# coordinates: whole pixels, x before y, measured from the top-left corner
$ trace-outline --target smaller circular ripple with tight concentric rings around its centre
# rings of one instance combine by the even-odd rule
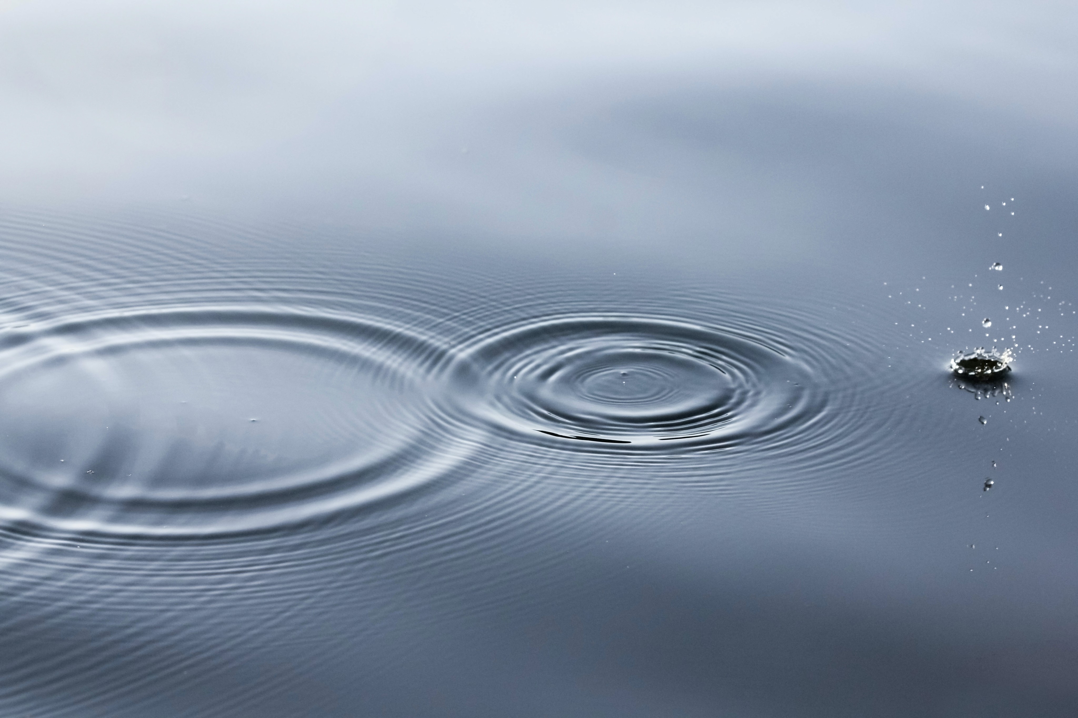
[[[811,367],[730,329],[561,316],[484,337],[453,369],[455,395],[516,438],[611,450],[718,449],[766,440],[826,408]]]

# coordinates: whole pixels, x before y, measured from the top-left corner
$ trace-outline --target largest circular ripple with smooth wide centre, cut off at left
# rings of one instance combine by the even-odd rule
[[[433,340],[246,309],[83,316],[0,334],[0,516],[178,536],[400,496],[462,457],[432,418]]]

